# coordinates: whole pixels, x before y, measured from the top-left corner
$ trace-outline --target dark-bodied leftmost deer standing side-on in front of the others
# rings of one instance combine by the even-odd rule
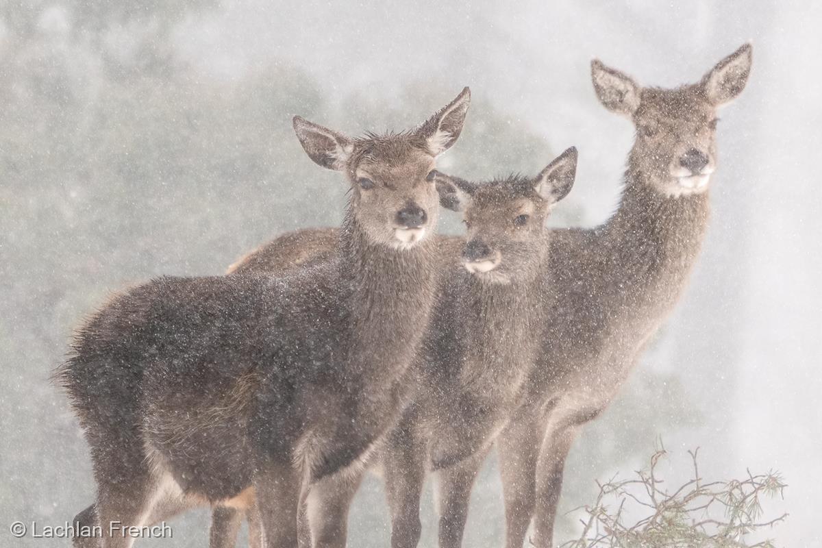
[[[349,139],[294,118],[303,149],[353,188],[334,260],[289,276],[161,278],[113,298],[58,369],[97,481],[78,521],[111,531],[256,499],[266,546],[297,545],[302,489],[357,467],[399,419],[436,287],[434,160],[466,88],[422,127]],[[77,539],[94,546],[94,539]],[[224,539],[233,543],[233,539]]]

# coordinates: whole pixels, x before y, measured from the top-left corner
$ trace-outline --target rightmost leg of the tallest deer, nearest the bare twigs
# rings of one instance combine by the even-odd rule
[[[537,463],[536,504],[533,516],[534,546],[552,546],[556,505],[562,490],[566,457],[580,426],[547,431]]]

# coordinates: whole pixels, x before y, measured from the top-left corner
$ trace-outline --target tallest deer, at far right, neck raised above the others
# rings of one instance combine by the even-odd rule
[[[686,287],[709,217],[717,109],[746,85],[751,48],[697,84],[644,88],[594,61],[593,86],[629,117],[636,139],[621,205],[603,226],[558,230],[547,269],[558,298],[547,308],[529,400],[501,435],[506,546],[552,546],[563,464],[577,432],[611,402],[644,345]]]

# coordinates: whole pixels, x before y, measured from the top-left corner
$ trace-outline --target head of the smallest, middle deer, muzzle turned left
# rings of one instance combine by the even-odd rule
[[[571,147],[537,177],[511,176],[483,184],[436,172],[443,207],[464,211],[465,269],[489,283],[538,275],[547,251],[545,221],[574,186],[576,159]]]

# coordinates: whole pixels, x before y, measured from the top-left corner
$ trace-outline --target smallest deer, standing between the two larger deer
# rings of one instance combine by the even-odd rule
[[[566,150],[538,177],[485,184],[441,173],[441,205],[464,210],[467,242],[440,238],[442,273],[437,305],[412,366],[416,389],[399,425],[377,452],[392,516],[391,545],[416,546],[419,500],[427,469],[439,471],[441,546],[459,546],[473,477],[510,411],[538,348],[552,206],[570,191],[576,150]],[[330,230],[280,237],[247,256],[242,268],[281,272],[289,261],[327,252]],[[298,246],[294,246],[298,243]],[[327,243],[327,242],[326,242]],[[460,255],[462,260],[452,257]],[[314,546],[345,546],[349,505],[361,474],[328,477],[307,497]],[[471,480],[471,481],[469,481]],[[462,490],[464,489],[464,490]]]

